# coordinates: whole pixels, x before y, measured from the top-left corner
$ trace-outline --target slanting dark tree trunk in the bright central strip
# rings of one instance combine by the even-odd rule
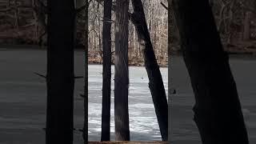
[[[136,26],[138,41],[143,48],[146,72],[149,78],[150,92],[154,102],[155,112],[158,118],[158,124],[162,135],[162,140],[168,139],[168,104],[166,91],[162,82],[162,75],[159,70],[158,62],[154,55],[153,46],[150,40],[150,34],[146,25],[146,18],[141,0],[132,0],[134,14],[131,15],[131,21]]]

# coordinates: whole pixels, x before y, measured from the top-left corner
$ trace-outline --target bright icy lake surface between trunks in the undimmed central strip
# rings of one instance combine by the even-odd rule
[[[112,66],[114,72],[114,66]],[[167,93],[167,68],[161,68]],[[102,66],[89,66],[89,134],[92,140],[99,140],[102,111]],[[129,116],[130,134],[134,141],[161,140],[158,122],[154,112],[145,67],[130,66]],[[114,140],[114,74],[112,74],[111,135]]]

